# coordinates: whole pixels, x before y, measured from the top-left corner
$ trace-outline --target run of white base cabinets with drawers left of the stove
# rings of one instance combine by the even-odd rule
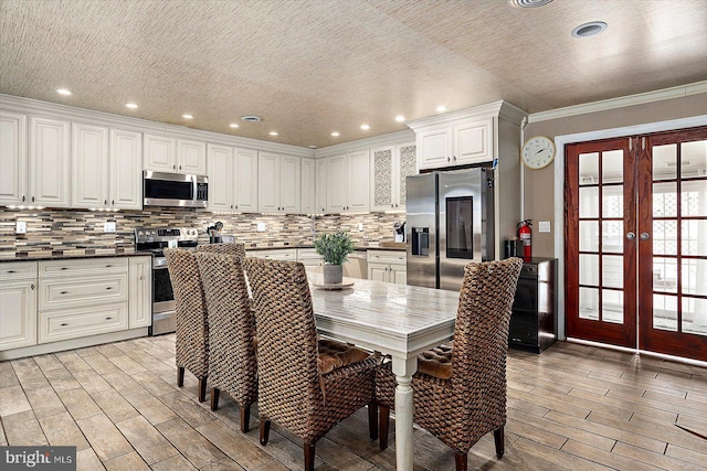
[[[149,256],[2,263],[0,281],[0,360],[143,336],[151,323]]]

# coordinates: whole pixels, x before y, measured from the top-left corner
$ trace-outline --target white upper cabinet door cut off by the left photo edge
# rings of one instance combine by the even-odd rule
[[[0,205],[28,200],[27,115],[0,109]]]

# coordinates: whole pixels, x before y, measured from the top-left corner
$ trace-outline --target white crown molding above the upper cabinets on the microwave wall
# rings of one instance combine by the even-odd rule
[[[71,120],[76,122],[89,122],[97,126],[115,127],[137,132],[148,132],[165,135],[169,133],[176,138],[196,139],[204,142],[219,143],[222,146],[233,146],[255,150],[264,150],[276,153],[286,153],[295,157],[314,157],[313,149],[289,146],[278,142],[270,142],[260,139],[244,138],[240,136],[224,135],[201,129],[187,128],[184,126],[168,125],[165,122],[150,121],[147,119],[133,118],[129,116],[114,115],[92,109],[77,108],[75,106],[61,105],[56,103],[41,101],[32,98],[18,97],[13,95],[0,94],[0,107],[7,110],[24,114],[49,115],[56,119]]]

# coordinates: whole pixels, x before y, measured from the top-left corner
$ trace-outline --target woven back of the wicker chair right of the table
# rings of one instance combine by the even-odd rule
[[[508,323],[523,260],[468,264],[460,290],[454,327],[452,382],[457,394],[473,396],[469,404],[490,414],[506,416],[506,354]],[[494,419],[498,421],[498,417]]]

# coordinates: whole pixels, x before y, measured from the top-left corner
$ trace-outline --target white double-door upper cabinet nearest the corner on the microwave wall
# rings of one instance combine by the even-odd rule
[[[257,203],[261,213],[299,213],[300,159],[272,152],[257,156]]]

